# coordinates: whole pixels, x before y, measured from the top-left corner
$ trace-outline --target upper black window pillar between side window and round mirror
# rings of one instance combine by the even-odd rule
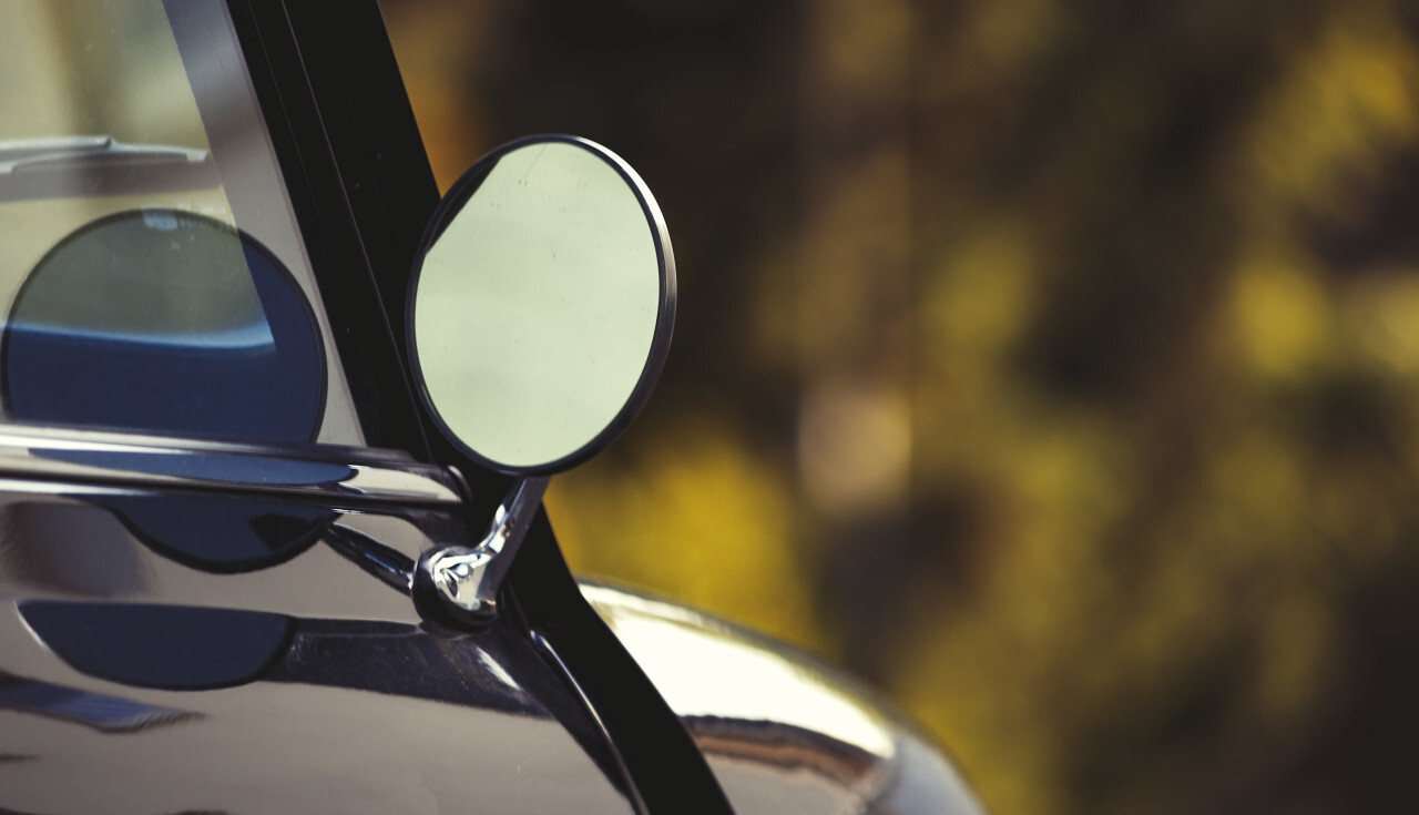
[[[373,3],[227,0],[366,444],[433,460],[402,287],[438,189]],[[377,156],[377,158],[375,158]]]

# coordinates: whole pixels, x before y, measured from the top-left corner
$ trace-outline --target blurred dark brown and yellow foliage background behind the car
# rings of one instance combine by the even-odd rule
[[[1419,4],[385,0],[438,183],[675,241],[579,571],[797,643],[999,814],[1413,812]]]

